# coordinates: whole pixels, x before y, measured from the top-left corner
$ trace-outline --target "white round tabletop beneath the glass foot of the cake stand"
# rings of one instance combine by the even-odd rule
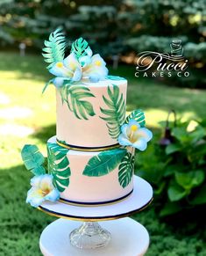
[[[90,223],[91,224],[91,223]],[[102,230],[98,223],[96,229]],[[39,245],[40,250],[45,256],[134,256],[144,255],[149,245],[149,235],[144,226],[132,220],[129,217],[117,219],[114,221],[103,221],[101,226],[103,230],[108,230],[110,233],[110,240],[106,239],[106,247],[99,246],[96,249],[79,249],[76,248],[71,237],[74,236],[76,229],[78,232],[87,230],[89,232],[89,223],[82,224],[79,228],[80,222],[69,221],[66,219],[59,219],[49,224],[43,230]],[[94,226],[91,230],[94,230]],[[71,243],[69,242],[69,234]],[[89,237],[88,237],[89,238]],[[78,240],[78,239],[77,239]],[[88,245],[88,241],[87,241]],[[78,246],[81,247],[81,246]],[[91,248],[91,247],[90,247]]]

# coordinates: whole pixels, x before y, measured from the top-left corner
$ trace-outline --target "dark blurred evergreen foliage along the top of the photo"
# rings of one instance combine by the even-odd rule
[[[49,33],[60,26],[67,33],[67,46],[82,36],[105,58],[131,55],[127,61],[132,62],[145,50],[170,52],[171,40],[179,38],[190,76],[165,77],[166,82],[205,87],[205,10],[204,0],[3,0],[0,45],[17,48],[19,42],[25,42],[28,48],[38,50]]]

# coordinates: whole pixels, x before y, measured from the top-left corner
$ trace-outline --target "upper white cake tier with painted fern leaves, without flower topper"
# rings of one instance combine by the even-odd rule
[[[126,91],[127,81],[120,77],[57,89],[57,141],[78,150],[117,146],[125,121]]]

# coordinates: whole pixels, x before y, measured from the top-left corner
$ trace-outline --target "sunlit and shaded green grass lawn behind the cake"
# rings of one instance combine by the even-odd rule
[[[19,57],[0,52],[0,255],[40,255],[39,235],[55,219],[25,204],[31,174],[25,171],[20,158],[25,143],[35,143],[46,153],[46,140],[55,135],[53,86],[41,95],[50,78],[45,67],[40,54]],[[205,115],[202,106],[206,91],[138,79],[133,76],[134,67],[121,66],[110,73],[128,78],[128,111],[143,108],[154,133],[160,131],[158,122],[167,118],[171,108],[183,118],[201,119]],[[197,229],[195,223],[189,227],[164,223],[153,205],[133,217],[150,232],[151,245],[146,255],[206,255],[206,232]]]

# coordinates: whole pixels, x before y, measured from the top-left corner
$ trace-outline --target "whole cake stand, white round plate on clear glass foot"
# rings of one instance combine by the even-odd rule
[[[74,221],[82,221],[82,225],[67,234],[71,245],[81,249],[105,247],[112,240],[110,231],[97,222],[116,220],[130,216],[146,208],[153,201],[153,188],[145,179],[134,177],[132,194],[124,201],[103,206],[74,206],[60,201],[44,201],[39,210],[51,216]],[[54,222],[55,223],[55,222]]]

